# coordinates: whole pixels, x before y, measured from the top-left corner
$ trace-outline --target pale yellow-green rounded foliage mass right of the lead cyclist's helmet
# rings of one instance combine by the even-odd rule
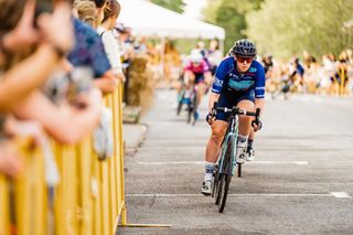
[[[266,0],[249,13],[246,33],[263,52],[289,57],[307,50],[315,55],[339,53],[352,41],[351,0]],[[352,44],[351,44],[352,45]]]

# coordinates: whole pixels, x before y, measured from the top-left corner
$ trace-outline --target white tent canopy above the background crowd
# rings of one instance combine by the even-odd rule
[[[224,40],[224,29],[188,18],[147,0],[119,0],[118,22],[141,36],[218,39]]]

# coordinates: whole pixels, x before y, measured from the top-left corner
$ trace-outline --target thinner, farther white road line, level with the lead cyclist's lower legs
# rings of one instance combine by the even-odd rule
[[[139,161],[138,164],[143,165],[168,165],[168,164],[204,164],[204,161]],[[306,165],[308,161],[252,161],[247,164],[298,164]]]

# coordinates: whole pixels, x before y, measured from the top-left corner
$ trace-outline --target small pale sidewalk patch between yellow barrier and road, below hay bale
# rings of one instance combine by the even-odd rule
[[[135,154],[137,148],[145,139],[148,126],[143,124],[122,124],[122,138],[125,142],[125,154]]]

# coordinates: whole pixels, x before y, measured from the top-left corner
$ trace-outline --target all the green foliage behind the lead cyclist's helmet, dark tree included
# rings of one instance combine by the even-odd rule
[[[206,21],[225,29],[225,50],[249,38],[279,57],[352,47],[352,0],[208,0],[203,10]]]

